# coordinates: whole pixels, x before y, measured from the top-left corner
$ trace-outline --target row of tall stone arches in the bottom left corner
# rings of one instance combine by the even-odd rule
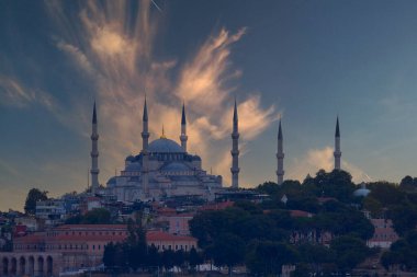
[[[58,276],[55,253],[0,253],[0,276]]]

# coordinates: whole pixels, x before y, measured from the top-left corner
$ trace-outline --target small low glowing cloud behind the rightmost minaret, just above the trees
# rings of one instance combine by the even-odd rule
[[[311,149],[302,159],[294,159],[293,166],[286,173],[288,178],[300,180],[301,182],[307,174],[314,176],[319,170],[330,172],[334,170],[334,149],[329,146],[322,149]],[[341,159],[341,168],[352,175],[354,183],[369,182],[372,178],[354,164]]]

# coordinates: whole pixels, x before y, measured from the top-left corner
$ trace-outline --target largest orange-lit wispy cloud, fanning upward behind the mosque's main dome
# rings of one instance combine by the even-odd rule
[[[206,169],[213,165],[216,173],[229,172],[227,155],[234,94],[239,102],[244,141],[255,139],[277,119],[274,106],[261,106],[260,93],[237,95],[237,83],[243,72],[233,67],[230,53],[233,45],[246,34],[246,28],[236,33],[226,28],[213,32],[195,55],[178,65],[176,59],[158,60],[154,57],[159,23],[157,18],[150,19],[149,0],[140,1],[136,10],[132,10],[127,1],[100,4],[87,1],[77,16],[63,12],[61,2],[48,1],[45,4],[50,19],[61,31],[56,39],[57,48],[87,72],[97,88],[100,157],[106,177],[114,168],[123,164],[125,155],[140,150],[145,93],[151,139],[158,137],[164,124],[168,137],[178,140],[180,107],[185,101],[190,152],[201,154]],[[172,70],[179,70],[178,80],[170,78]],[[74,108],[72,113],[83,114],[83,118],[90,116],[87,105]],[[225,177],[228,183],[228,176]]]

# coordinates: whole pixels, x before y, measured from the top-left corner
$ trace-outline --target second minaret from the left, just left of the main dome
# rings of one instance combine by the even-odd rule
[[[145,105],[144,105],[144,116],[143,116],[143,131],[142,131],[142,188],[144,189],[145,197],[149,196],[149,153],[148,153],[148,108],[146,105],[146,96],[145,96]]]

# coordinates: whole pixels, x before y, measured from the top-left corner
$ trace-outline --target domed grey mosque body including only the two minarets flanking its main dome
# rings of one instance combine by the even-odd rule
[[[162,135],[148,143],[148,113],[145,100],[143,116],[143,150],[128,155],[120,175],[111,177],[104,194],[115,195],[120,201],[161,199],[173,196],[198,195],[207,200],[222,189],[222,176],[207,174],[202,160],[187,152],[185,107],[182,106],[181,145]],[[95,157],[94,157],[95,159]]]

